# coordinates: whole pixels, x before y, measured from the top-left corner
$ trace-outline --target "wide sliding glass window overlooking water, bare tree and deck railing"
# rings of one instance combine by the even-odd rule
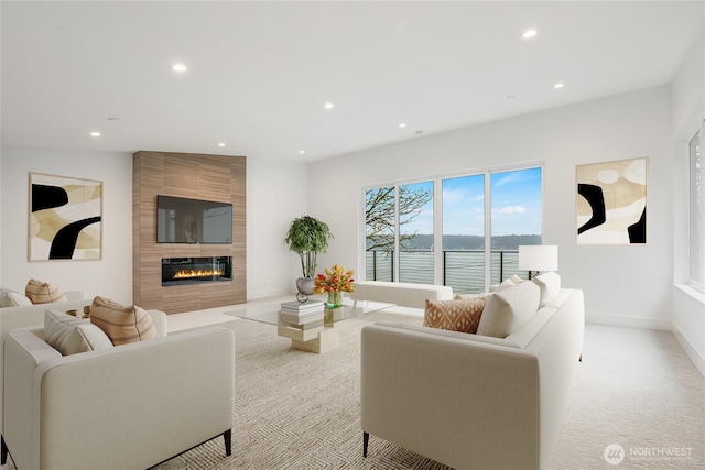
[[[441,284],[464,294],[525,276],[518,251],[541,244],[541,167],[367,189],[367,280]]]

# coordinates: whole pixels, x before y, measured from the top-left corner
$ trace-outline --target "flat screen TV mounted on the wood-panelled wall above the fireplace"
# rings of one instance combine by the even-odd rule
[[[232,243],[232,204],[156,196],[158,243]]]

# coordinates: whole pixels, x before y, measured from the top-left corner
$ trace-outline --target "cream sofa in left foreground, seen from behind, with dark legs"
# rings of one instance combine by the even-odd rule
[[[144,469],[223,436],[230,455],[235,336],[223,327],[62,357],[43,329],[3,337],[2,463]]]

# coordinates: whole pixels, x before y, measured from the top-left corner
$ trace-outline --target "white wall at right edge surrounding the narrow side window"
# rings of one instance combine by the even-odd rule
[[[674,334],[705,375],[705,295],[685,286],[688,280],[688,142],[705,135],[705,37],[696,43],[673,81],[674,140]]]

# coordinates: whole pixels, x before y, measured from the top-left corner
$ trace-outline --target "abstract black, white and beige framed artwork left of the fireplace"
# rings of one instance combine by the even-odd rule
[[[102,182],[30,173],[29,259],[100,260]]]

